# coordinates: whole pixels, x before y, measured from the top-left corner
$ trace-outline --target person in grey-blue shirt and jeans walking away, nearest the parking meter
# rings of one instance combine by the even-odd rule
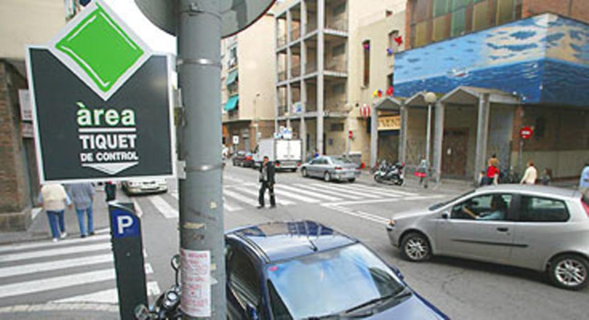
[[[92,203],[94,202],[94,186],[92,183],[74,183],[67,187],[67,192],[74,202],[75,213],[80,225],[80,236],[94,235],[94,220],[92,219]],[[88,219],[88,229],[84,226],[84,213]]]

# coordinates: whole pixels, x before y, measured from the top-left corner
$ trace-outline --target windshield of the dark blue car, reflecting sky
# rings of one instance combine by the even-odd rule
[[[287,260],[268,267],[275,319],[302,319],[346,311],[395,294],[405,286],[361,244]]]

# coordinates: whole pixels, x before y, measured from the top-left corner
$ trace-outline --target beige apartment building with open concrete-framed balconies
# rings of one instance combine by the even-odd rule
[[[365,64],[362,48],[374,33],[382,31],[375,41],[384,45],[392,29],[403,28],[403,15],[395,17],[401,25],[391,22],[404,6],[400,0],[292,0],[277,5],[276,130],[292,127],[306,154],[352,151],[367,161],[369,136],[360,108],[373,103],[369,92],[379,81],[386,91],[392,64]],[[385,45],[377,60],[386,61],[386,52]],[[373,85],[363,82],[365,65],[373,70]]]

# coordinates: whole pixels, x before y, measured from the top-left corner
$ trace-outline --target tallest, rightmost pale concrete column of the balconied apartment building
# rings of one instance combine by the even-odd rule
[[[323,153],[323,70],[325,57],[323,55],[325,46],[325,0],[317,0],[317,149]]]

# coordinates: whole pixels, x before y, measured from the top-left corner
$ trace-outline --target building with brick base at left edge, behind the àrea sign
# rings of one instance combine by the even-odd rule
[[[63,0],[0,3],[0,230],[24,230],[38,193],[30,121],[20,111],[18,90],[27,89],[25,46],[43,44],[65,24]]]

